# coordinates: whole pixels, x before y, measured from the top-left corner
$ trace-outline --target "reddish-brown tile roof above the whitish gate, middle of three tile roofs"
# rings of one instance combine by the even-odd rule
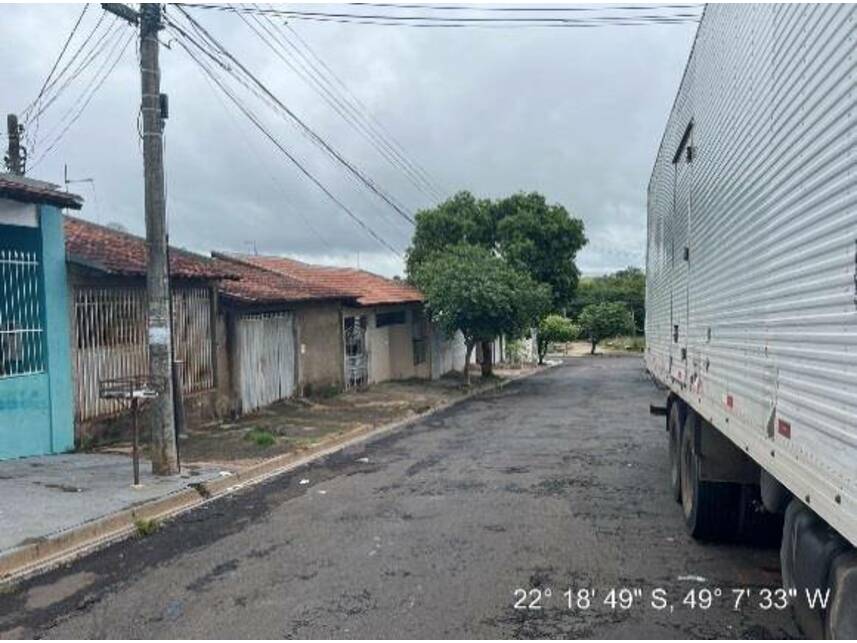
[[[275,304],[319,299],[349,299],[347,293],[266,270],[243,258],[213,252],[215,261],[238,279],[221,284],[223,296],[242,303]]]

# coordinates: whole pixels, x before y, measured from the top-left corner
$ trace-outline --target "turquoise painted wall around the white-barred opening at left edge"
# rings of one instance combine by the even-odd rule
[[[39,207],[38,229],[0,226],[4,248],[41,252],[46,371],[0,379],[0,459],[74,448],[71,340],[62,213]]]

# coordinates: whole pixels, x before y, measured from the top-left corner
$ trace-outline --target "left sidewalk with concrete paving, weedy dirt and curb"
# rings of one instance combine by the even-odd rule
[[[131,487],[130,449],[121,444],[0,462],[0,583],[538,370],[496,369],[484,382],[471,373],[470,389],[460,379],[409,380],[275,404],[190,433],[180,475],[156,478],[141,459],[140,489]]]

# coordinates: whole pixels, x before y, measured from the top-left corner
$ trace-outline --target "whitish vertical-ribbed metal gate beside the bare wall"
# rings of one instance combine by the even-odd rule
[[[236,325],[241,411],[295,392],[295,324],[291,313],[243,315]]]

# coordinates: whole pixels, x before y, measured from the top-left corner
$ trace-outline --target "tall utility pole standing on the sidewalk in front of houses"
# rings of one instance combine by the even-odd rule
[[[146,287],[149,312],[149,374],[163,386],[153,400],[151,455],[155,475],[178,473],[172,377],[172,319],[164,197],[164,145],[161,112],[161,72],[158,67],[160,4],[141,4],[134,11],[123,4],[102,7],[140,25],[140,79],[143,120],[143,175],[148,264]]]

